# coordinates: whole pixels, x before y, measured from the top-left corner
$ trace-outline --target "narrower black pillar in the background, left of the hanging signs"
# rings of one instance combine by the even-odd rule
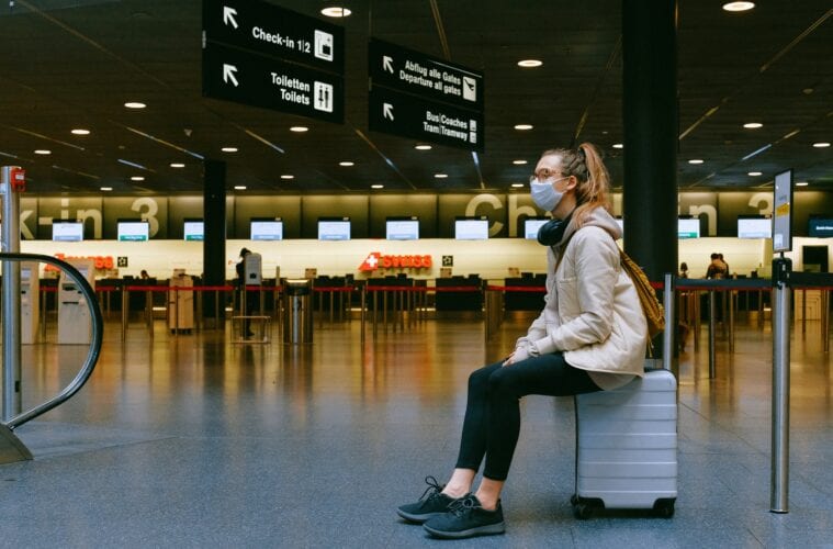
[[[205,160],[203,180],[202,245],[203,283],[223,285],[226,282],[226,163]],[[225,295],[222,292],[205,292],[203,295],[203,318],[216,318],[216,325],[224,325]]]

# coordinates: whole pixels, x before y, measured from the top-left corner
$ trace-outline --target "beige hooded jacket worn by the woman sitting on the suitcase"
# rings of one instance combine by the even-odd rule
[[[544,309],[517,343],[531,354],[564,351],[569,365],[587,370],[605,390],[643,374],[648,344],[645,315],[615,242],[620,236],[603,208],[577,231],[571,220],[561,243],[548,250]]]

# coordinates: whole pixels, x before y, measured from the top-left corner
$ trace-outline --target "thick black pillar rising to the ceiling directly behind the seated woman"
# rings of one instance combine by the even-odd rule
[[[622,0],[624,249],[652,281],[677,272],[676,18],[676,0]]]

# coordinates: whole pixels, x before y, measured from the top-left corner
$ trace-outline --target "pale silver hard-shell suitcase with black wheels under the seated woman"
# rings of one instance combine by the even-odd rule
[[[575,397],[577,518],[594,508],[674,515],[677,498],[677,382],[652,370],[623,388]]]

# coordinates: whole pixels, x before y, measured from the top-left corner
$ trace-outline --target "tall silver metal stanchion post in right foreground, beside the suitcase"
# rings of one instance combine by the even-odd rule
[[[789,513],[789,273],[792,261],[773,260],[773,448],[769,511]]]

